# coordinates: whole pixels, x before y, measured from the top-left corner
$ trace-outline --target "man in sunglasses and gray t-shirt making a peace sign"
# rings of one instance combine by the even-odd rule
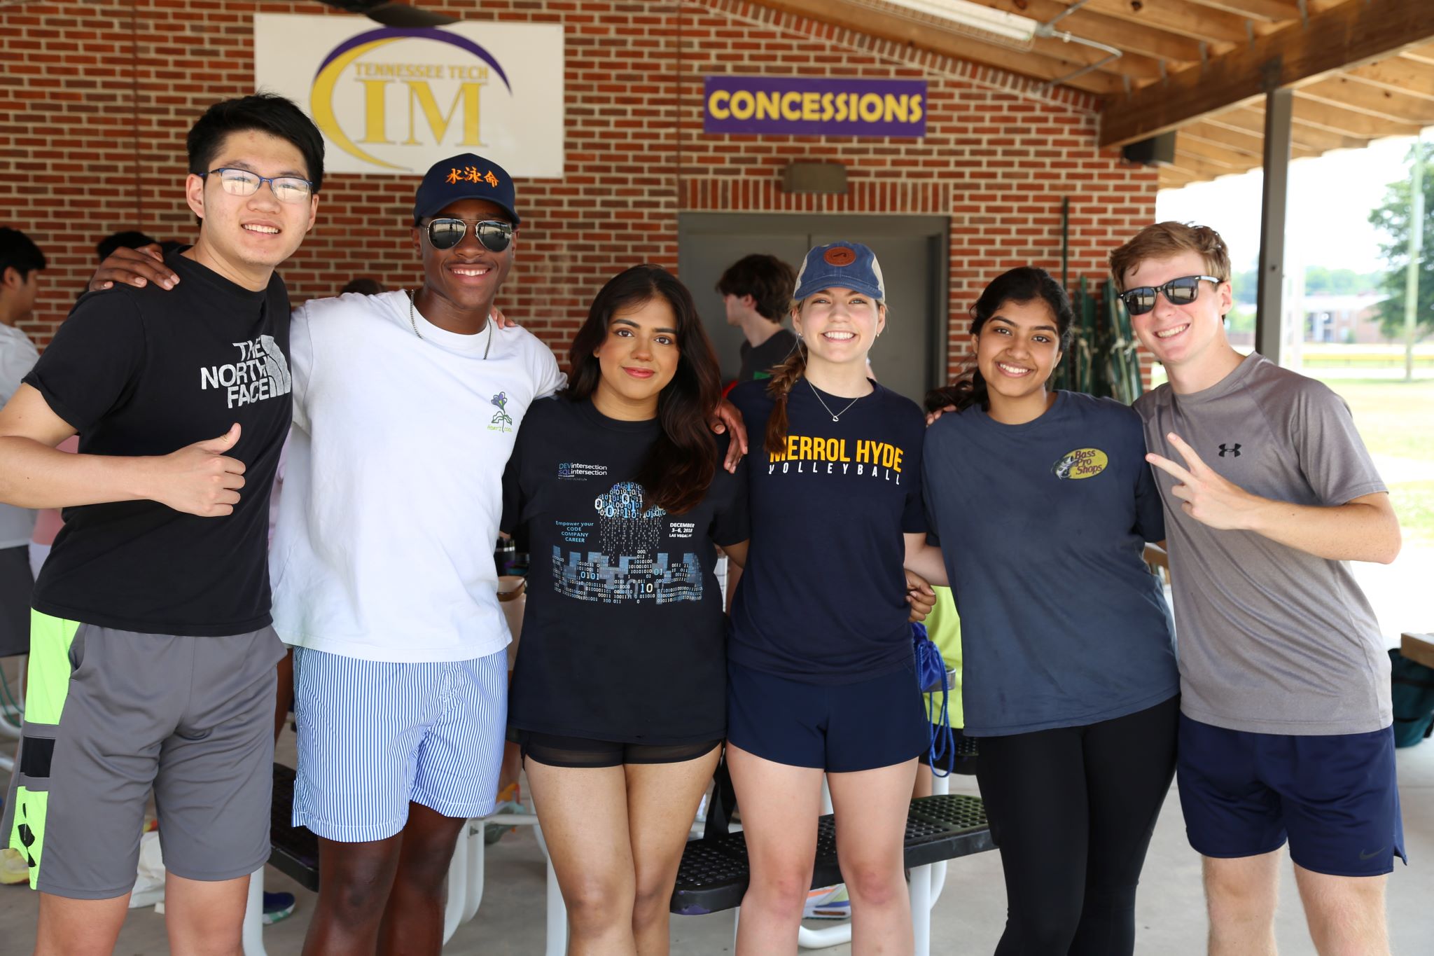
[[[1230,347],[1219,234],[1152,225],[1110,265],[1170,378],[1136,410],[1166,503],[1176,775],[1210,953],[1275,953],[1288,840],[1316,949],[1387,955],[1385,874],[1404,857],[1390,659],[1345,563],[1400,550],[1384,482],[1336,394]]]

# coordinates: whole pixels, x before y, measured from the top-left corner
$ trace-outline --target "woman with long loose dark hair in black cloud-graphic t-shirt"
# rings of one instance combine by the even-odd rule
[[[509,732],[568,907],[569,953],[665,953],[683,846],[726,737],[714,545],[746,469],[711,434],[717,357],[691,294],[638,265],[592,301],[566,391],[503,477],[532,555]]]

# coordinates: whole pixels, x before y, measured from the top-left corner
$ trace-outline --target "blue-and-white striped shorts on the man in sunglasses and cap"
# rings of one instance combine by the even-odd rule
[[[508,655],[389,664],[294,648],[294,826],[384,840],[409,801],[445,817],[493,811],[508,721]]]

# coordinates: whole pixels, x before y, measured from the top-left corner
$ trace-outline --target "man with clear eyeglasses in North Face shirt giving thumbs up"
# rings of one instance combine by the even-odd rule
[[[76,304],[0,411],[0,500],[60,507],[34,589],[4,834],[40,890],[36,953],[110,953],[151,788],[175,952],[238,952],[268,859],[268,486],[290,426],[274,268],[314,224],[323,139],[291,102],[209,107],[188,136],[199,235],[172,294]],[[54,450],[79,433],[79,454]]]

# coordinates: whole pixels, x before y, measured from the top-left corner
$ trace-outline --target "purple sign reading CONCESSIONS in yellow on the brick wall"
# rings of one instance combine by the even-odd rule
[[[926,135],[926,82],[707,76],[703,130],[919,138]]]

